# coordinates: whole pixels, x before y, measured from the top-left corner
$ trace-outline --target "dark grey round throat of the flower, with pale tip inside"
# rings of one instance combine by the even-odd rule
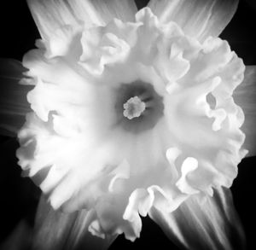
[[[163,115],[163,97],[155,92],[150,83],[137,80],[131,84],[120,84],[116,96],[115,125],[125,131],[135,134],[148,131]]]

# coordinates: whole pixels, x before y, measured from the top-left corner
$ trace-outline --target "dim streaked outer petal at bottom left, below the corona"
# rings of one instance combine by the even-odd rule
[[[64,213],[53,210],[41,197],[35,223],[32,249],[38,250],[63,250],[83,249],[108,249],[115,236],[105,239],[93,236],[88,231],[94,213],[81,210],[79,212]]]

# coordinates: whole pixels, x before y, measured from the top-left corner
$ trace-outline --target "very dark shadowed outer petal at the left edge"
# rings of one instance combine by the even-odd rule
[[[31,86],[20,82],[26,68],[20,61],[0,59],[0,133],[15,137],[31,111],[26,94]]]

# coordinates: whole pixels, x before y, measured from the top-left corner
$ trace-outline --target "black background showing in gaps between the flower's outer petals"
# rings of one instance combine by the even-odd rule
[[[139,8],[148,1],[137,1]],[[229,41],[246,65],[256,65],[256,1],[241,0],[236,15],[221,35]],[[34,48],[39,38],[37,27],[26,6],[25,0],[2,1],[0,5],[0,57],[22,59],[27,50]],[[255,83],[256,84],[256,83]],[[39,190],[28,178],[20,177],[20,167],[16,164],[15,150],[19,147],[15,138],[0,137],[0,241],[3,241],[20,222],[26,218],[33,224],[38,203]],[[239,175],[231,190],[247,235],[247,249],[256,249],[255,172],[254,157],[242,160]],[[142,249],[143,247],[177,249],[172,245],[160,228],[150,219],[143,218],[143,231],[134,243],[126,241],[123,235],[110,247],[114,249]]]

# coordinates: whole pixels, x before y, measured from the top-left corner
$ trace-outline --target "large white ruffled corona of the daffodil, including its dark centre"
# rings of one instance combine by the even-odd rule
[[[93,235],[133,241],[152,206],[230,187],[247,151],[232,98],[245,67],[227,42],[144,8],[58,27],[38,47],[23,60],[35,86],[17,156],[55,209],[86,209]]]

